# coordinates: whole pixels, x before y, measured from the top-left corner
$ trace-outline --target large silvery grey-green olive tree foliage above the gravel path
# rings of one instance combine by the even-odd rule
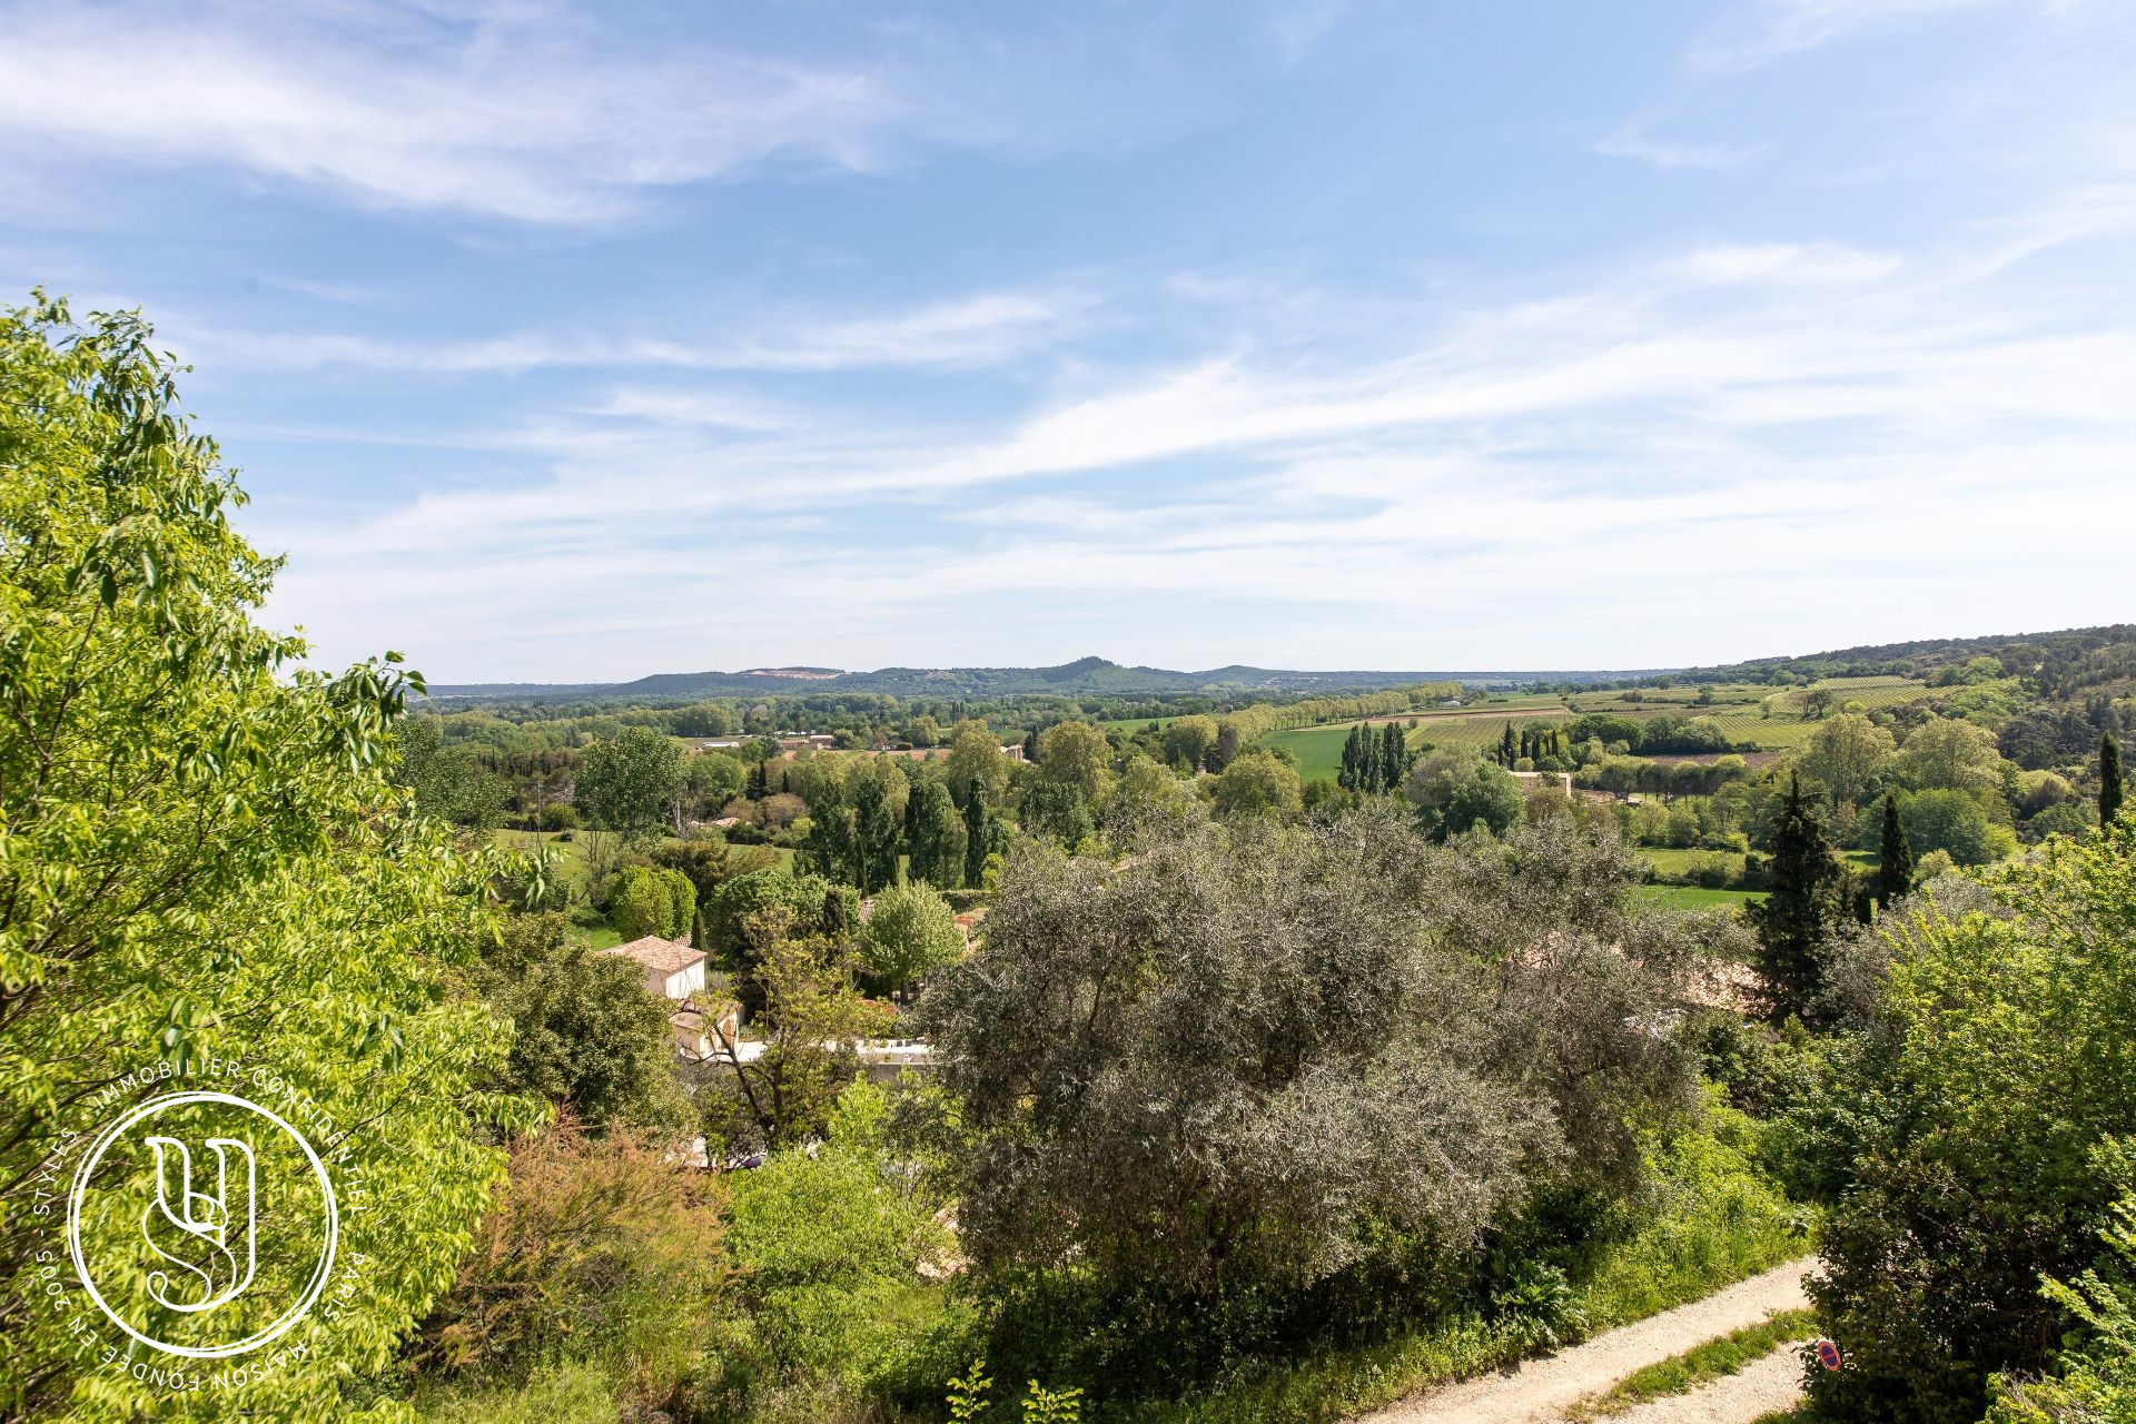
[[[1435,845],[1393,807],[1023,848],[921,1003],[974,1260],[1301,1285],[1630,1185],[1636,1125],[1692,1102],[1675,984],[1726,933],[1630,914],[1636,880],[1564,818]]]

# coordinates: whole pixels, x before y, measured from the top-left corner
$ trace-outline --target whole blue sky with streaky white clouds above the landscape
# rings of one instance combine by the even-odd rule
[[[0,301],[143,307],[320,664],[1625,668],[2136,617],[2125,0],[0,36]]]

